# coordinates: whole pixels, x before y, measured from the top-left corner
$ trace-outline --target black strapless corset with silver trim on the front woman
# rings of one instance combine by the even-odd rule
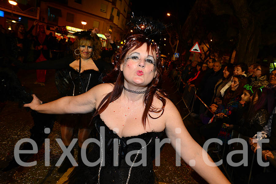
[[[88,153],[87,159],[89,162],[96,162],[100,156],[104,156],[105,159],[100,159],[101,163],[95,167],[86,165],[75,167],[66,183],[153,184],[156,182],[157,178],[152,170],[152,158],[155,154],[155,139],[161,139],[164,131],[120,138],[105,125],[99,115],[94,117],[93,123],[95,123],[98,133],[100,133],[100,127],[104,128],[104,137],[99,134],[97,138],[99,141],[104,139],[104,144],[98,146],[93,143],[93,149]],[[144,145],[135,142],[137,141],[135,138],[143,140]],[[133,142],[129,143],[128,141]],[[103,149],[105,149],[104,152]],[[113,158],[114,149],[117,151],[116,158]],[[130,158],[129,155],[131,155]],[[142,161],[145,166],[143,164],[135,165]]]

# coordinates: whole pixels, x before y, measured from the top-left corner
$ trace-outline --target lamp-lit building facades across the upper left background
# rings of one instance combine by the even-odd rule
[[[121,42],[126,23],[130,20],[130,0],[14,1],[17,1],[17,6],[12,6],[8,0],[0,1],[0,10],[4,12],[0,17],[3,28],[14,29],[16,23],[13,22],[16,21],[28,29],[38,19],[45,25],[47,34],[55,34],[58,26],[67,27],[69,36],[80,29],[98,28],[100,34],[109,32],[115,42]],[[87,24],[83,25],[82,21]],[[101,39],[103,46],[109,46],[104,38]]]

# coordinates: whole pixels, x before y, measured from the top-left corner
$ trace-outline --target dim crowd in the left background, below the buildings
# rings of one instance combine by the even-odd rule
[[[35,30],[35,31],[34,31]],[[34,33],[35,32],[35,33]],[[7,30],[0,25],[1,40],[1,67],[9,67],[12,61],[8,57],[22,63],[34,63],[45,60],[58,60],[66,54],[72,54],[73,42],[70,37],[60,36],[58,39],[52,32],[46,34],[45,25],[34,21],[33,25],[26,31],[24,24],[17,23],[15,28]],[[102,47],[102,55],[107,62],[113,55],[112,49]],[[17,70],[17,68],[14,68]],[[35,84],[44,86],[46,70],[37,70]]]

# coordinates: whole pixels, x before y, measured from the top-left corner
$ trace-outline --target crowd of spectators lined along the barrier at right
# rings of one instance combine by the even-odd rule
[[[171,64],[173,65],[173,64]],[[204,139],[219,138],[223,142],[238,135],[247,141],[248,163],[253,159],[253,153],[260,149],[263,160],[270,159],[276,163],[276,68],[271,69],[268,63],[256,63],[247,66],[245,63],[221,64],[215,59],[204,63],[187,61],[171,67],[181,75],[183,86],[189,85],[197,89],[198,99],[194,102],[191,116],[198,119],[202,125],[200,134]],[[169,72],[170,66],[168,67]],[[274,110],[273,110],[274,109]],[[233,130],[233,131],[232,131]],[[259,132],[259,133],[258,133]],[[260,133],[261,132],[261,133]],[[257,136],[258,135],[258,136]],[[225,140],[226,138],[226,140]],[[232,137],[234,138],[234,137]],[[262,148],[258,141],[269,139]],[[215,144],[214,152],[222,153],[220,145]],[[226,146],[228,147],[228,146]],[[231,145],[229,150],[243,150],[240,146]],[[240,162],[242,154],[233,156],[233,160]],[[263,173],[263,168],[254,160],[253,183],[258,183],[266,177],[267,183],[274,183],[274,175]],[[270,164],[268,171],[276,173]],[[247,183],[250,167],[235,167],[234,183]],[[247,177],[245,177],[247,176]]]

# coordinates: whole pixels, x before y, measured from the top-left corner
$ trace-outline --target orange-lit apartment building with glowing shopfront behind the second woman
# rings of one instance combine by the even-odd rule
[[[74,28],[98,28],[100,34],[109,32],[115,42],[121,42],[126,30],[126,23],[130,17],[129,0],[63,0],[41,1],[40,21],[47,25],[48,31],[55,30],[56,26]],[[87,24],[83,25],[82,21]],[[108,46],[105,39],[103,46]]]

